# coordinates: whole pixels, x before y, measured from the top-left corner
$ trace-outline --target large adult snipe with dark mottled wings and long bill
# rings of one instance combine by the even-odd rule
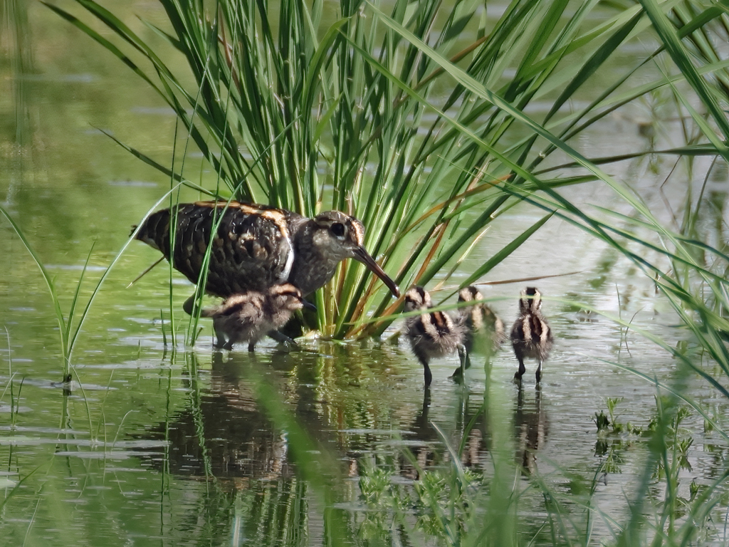
[[[191,282],[198,282],[208,244],[212,245],[205,288],[214,296],[265,292],[286,282],[308,295],[327,283],[346,258],[359,260],[399,295],[397,284],[364,249],[362,222],[339,211],[311,219],[237,201],[181,203],[149,215],[136,238],[170,260],[173,222],[173,265]],[[192,300],[185,304],[189,312]]]

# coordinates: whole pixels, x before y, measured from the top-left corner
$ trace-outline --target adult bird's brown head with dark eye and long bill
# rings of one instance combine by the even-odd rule
[[[316,216],[313,243],[322,254],[335,260],[354,258],[382,279],[393,295],[399,296],[397,284],[364,249],[364,226],[354,217],[339,211],[327,211]]]

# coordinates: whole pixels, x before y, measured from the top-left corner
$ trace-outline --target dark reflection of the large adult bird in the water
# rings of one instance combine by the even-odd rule
[[[149,465],[187,478],[288,481],[295,472],[284,431],[258,403],[254,382],[243,376],[258,360],[248,352],[225,355],[212,354],[208,376],[198,372],[195,354],[188,354],[191,373],[183,376],[182,387],[195,396],[144,433],[145,439],[168,443],[164,458],[158,449],[149,454]],[[277,389],[286,396],[285,384]]]

